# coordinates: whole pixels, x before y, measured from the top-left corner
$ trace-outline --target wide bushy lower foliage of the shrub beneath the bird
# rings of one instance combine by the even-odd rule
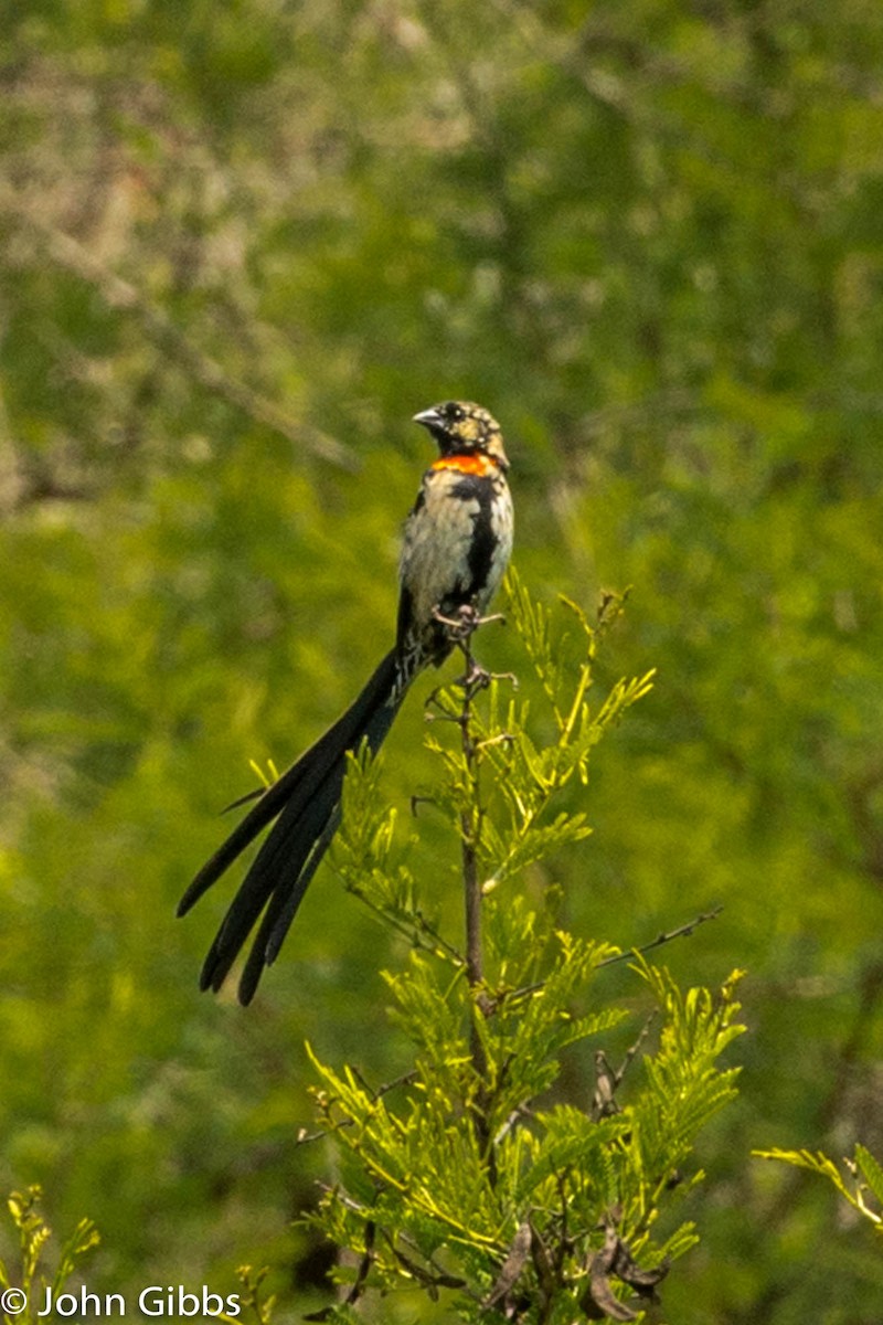
[[[536,917],[519,918],[527,921],[523,942],[534,946]],[[548,1092],[565,1045],[598,1043],[626,1015],[590,980],[606,950],[547,939],[547,979],[530,992],[496,992],[488,1018],[462,978],[445,979],[443,963],[434,969],[413,957],[388,977],[392,1016],[414,1051],[404,1081],[372,1089],[355,1069],[314,1057],[339,1177],[311,1222],[355,1264],[367,1256],[361,1269],[338,1269],[352,1301],[367,1289],[451,1289],[463,1320],[498,1318],[506,1297],[511,1318],[565,1321],[592,1301],[592,1260],[609,1223],[647,1268],[699,1240],[695,1223],[673,1208],[703,1177],[691,1167],[696,1134],[735,1096],[735,1069],[718,1067],[741,1030],[735,982],[718,998],[679,994],[666,971],[642,963],[654,990],[665,990],[661,1044],[629,1079],[616,1112],[602,1114],[589,1100],[552,1102]],[[594,1010],[568,1012],[561,1000],[584,1000],[589,987]],[[474,1024],[487,1077],[474,1067]],[[523,1228],[530,1249],[518,1281],[495,1301]]]

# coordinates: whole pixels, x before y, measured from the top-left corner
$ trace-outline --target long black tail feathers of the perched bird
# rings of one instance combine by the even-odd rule
[[[363,737],[372,750],[380,747],[405,689],[393,649],[343,717],[263,792],[203,865],[180,901],[179,916],[199,901],[262,828],[277,820],[221,922],[203,965],[200,988],[217,991],[221,987],[263,913],[240,980],[240,1002],[252,1002],[263,967],[277,958],[338,828],[347,753],[357,750]]]

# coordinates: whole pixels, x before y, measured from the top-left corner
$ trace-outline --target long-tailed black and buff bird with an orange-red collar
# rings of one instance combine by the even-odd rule
[[[451,621],[481,616],[512,551],[508,458],[496,420],[473,401],[447,400],[413,421],[438,447],[405,521],[398,562],[393,647],[346,713],[266,790],[234,802],[254,804],[203,865],[181,897],[184,916],[269,825],[208,951],[200,988],[218,992],[257,926],[238,983],[244,1006],[279,954],[298,906],[340,822],[347,757],[367,742],[380,749],[405,694],[428,666],[454,648]]]

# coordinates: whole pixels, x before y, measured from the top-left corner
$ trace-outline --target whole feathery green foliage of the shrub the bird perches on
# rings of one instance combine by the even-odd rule
[[[442,767],[428,799],[454,840],[474,849],[486,880],[481,977],[475,957],[425,918],[417,882],[397,859],[377,762],[364,751],[351,761],[334,859],[347,886],[412,938],[408,965],[385,979],[391,1019],[414,1057],[404,1079],[372,1089],[353,1068],[311,1053],[339,1178],[310,1222],[356,1257],[349,1271],[338,1269],[349,1284],[346,1305],[326,1318],[349,1318],[368,1288],[414,1287],[430,1296],[457,1291],[463,1320],[564,1322],[589,1309],[637,1318],[610,1279],[653,1297],[670,1261],[698,1242],[690,1220],[661,1238],[654,1226],[678,1189],[699,1179],[683,1173],[696,1136],[736,1093],[736,1071],[718,1060],[743,1030],[733,1022],[737,973],[712,998],[703,988],[682,992],[638,957],[634,970],[661,1018],[642,1083],[630,1081],[622,1100],[617,1079],[604,1097],[555,1101],[565,1051],[597,1044],[626,1016],[597,991],[598,969],[620,954],[573,938],[511,882],[516,869],[585,836],[581,812],[561,811],[548,827],[543,816],[575,774],[585,780],[590,751],[649,680],[617,682],[594,713],[586,694],[596,629],[563,606],[580,627],[581,659],[571,665],[555,613],[531,603],[515,578],[510,599],[553,717],[552,743],[528,737],[526,702],[500,705],[508,677],[481,678],[481,713],[469,653],[461,686],[432,698],[433,716],[450,719],[459,746],[443,743],[436,727],[428,738]]]

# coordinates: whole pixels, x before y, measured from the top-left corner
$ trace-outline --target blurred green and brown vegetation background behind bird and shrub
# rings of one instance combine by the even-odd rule
[[[749,971],[666,1318],[879,1325],[870,1232],[749,1158],[883,1153],[878,0],[28,0],[0,36],[0,1186],[98,1222],[94,1289],[250,1260],[322,1305],[303,1040],[393,1072],[398,958],[324,868],[244,1012],[196,990],[233,880],[173,908],[249,759],[388,647],[409,420],[467,396],[526,582],[631,586],[601,680],[658,668],[527,882],[626,946],[720,902],[665,959]]]

